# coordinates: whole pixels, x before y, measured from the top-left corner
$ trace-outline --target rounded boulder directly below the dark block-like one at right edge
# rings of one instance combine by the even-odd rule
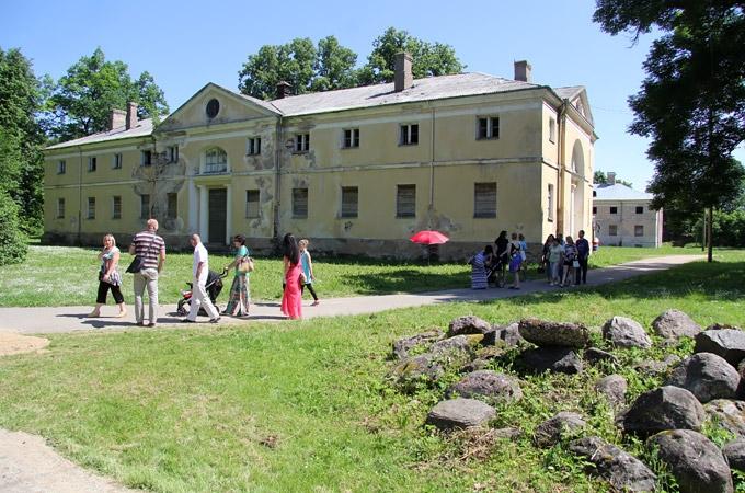
[[[690,390],[700,402],[734,399],[740,387],[740,374],[721,356],[697,353],[673,370],[666,385]]]

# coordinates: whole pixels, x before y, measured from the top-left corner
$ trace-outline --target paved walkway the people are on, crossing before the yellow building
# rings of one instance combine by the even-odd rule
[[[587,275],[588,286],[619,282],[642,274],[664,271],[675,265],[703,259],[702,255],[671,255],[641,261],[629,262],[612,267],[589,271]],[[413,295],[383,295],[383,296],[357,296],[351,298],[321,299],[318,307],[310,307],[305,301],[302,314],[306,319],[316,317],[349,316],[358,313],[373,313],[394,308],[421,307],[425,305],[442,303],[449,301],[484,301],[496,298],[508,298],[529,293],[558,290],[560,288],[549,286],[545,280],[529,280],[523,283],[520,290],[513,289],[449,289],[434,293],[419,293]],[[568,288],[564,288],[568,289]],[[577,289],[576,287],[569,289]],[[225,298],[224,298],[225,299]],[[104,317],[89,319],[87,314],[92,306],[87,307],[42,307],[42,308],[0,308],[0,332],[16,332],[22,334],[48,334],[60,332],[74,332],[88,330],[122,330],[133,329],[135,325],[134,309],[129,306],[129,314],[123,319],[114,318],[116,308],[104,307]],[[147,311],[147,309],[146,309]],[[161,306],[159,325],[172,325],[180,322],[182,317],[176,314],[175,305]],[[111,314],[111,317],[105,317]],[[200,317],[200,321],[207,318]],[[261,301],[252,303],[251,314],[248,318],[222,317],[220,324],[244,324],[251,321],[279,321],[284,320],[279,311],[278,301]]]

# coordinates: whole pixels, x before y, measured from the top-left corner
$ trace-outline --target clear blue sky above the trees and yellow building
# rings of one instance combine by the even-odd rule
[[[278,5],[282,5],[279,8]],[[207,82],[237,90],[238,71],[265,44],[334,35],[364,64],[373,39],[393,26],[451,45],[467,65],[512,78],[513,61],[532,65],[534,82],[585,85],[599,140],[595,169],[616,171],[643,190],[653,174],[646,142],[627,134],[627,99],[639,91],[651,36],[632,46],[592,22],[595,2],[490,1],[10,1],[0,47],[19,47],[37,76],[55,79],[96,46],[108,59],[148,70],[175,110]],[[741,149],[735,156],[745,161]]]

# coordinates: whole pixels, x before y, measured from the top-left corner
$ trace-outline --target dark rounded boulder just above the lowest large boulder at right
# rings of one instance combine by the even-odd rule
[[[616,423],[627,433],[652,434],[665,429],[701,429],[703,406],[679,387],[660,387],[639,395]]]

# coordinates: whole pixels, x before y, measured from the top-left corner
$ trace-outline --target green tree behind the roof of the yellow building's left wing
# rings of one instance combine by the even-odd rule
[[[83,56],[57,82],[49,99],[49,134],[69,140],[107,129],[113,108],[124,110],[128,102],[139,105],[140,118],[167,115],[163,91],[149,72],[137,80],[124,61],[108,61],[101,48]]]

